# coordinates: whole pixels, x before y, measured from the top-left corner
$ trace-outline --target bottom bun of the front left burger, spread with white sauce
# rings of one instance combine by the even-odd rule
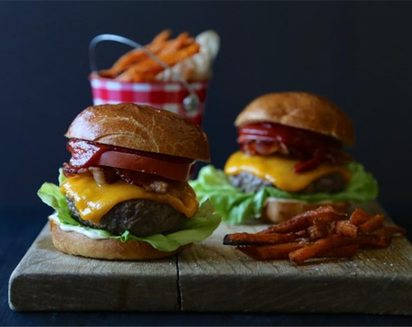
[[[147,242],[128,240],[124,243],[118,239],[90,239],[77,232],[61,230],[49,219],[50,232],[54,246],[61,252],[108,260],[150,260],[171,257],[192,244],[180,246],[174,251],[164,252],[152,247]]]

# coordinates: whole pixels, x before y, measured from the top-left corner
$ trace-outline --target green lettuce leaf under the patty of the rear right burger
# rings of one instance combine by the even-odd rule
[[[268,197],[307,202],[364,202],[375,199],[378,195],[378,184],[372,174],[366,172],[358,162],[350,162],[347,169],[351,172],[351,180],[345,190],[334,194],[289,193],[272,186],[262,188],[258,192],[244,193],[230,183],[222,170],[211,165],[203,167],[197,180],[189,183],[200,201],[209,199],[212,202],[216,211],[222,216],[222,221],[236,225],[243,223],[247,218],[260,216]]]

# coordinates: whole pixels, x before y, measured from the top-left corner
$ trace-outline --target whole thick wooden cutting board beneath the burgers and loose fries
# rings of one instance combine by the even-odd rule
[[[382,212],[376,202],[363,206]],[[121,262],[57,251],[46,225],[9,281],[16,311],[278,311],[412,315],[412,246],[405,237],[356,257],[296,266],[254,261],[227,233],[265,226],[227,226],[178,257]]]

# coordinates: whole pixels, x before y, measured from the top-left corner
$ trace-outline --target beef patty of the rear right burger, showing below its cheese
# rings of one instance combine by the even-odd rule
[[[246,193],[256,192],[265,186],[272,186],[272,183],[247,172],[240,172],[235,176],[228,176],[228,178],[233,186]],[[344,190],[345,186],[346,182],[343,176],[335,173],[317,179],[299,193],[337,193]]]

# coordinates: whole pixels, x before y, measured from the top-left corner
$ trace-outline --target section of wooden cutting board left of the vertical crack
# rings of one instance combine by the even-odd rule
[[[9,281],[15,311],[176,311],[176,257],[128,262],[75,257],[54,248],[44,226]]]

